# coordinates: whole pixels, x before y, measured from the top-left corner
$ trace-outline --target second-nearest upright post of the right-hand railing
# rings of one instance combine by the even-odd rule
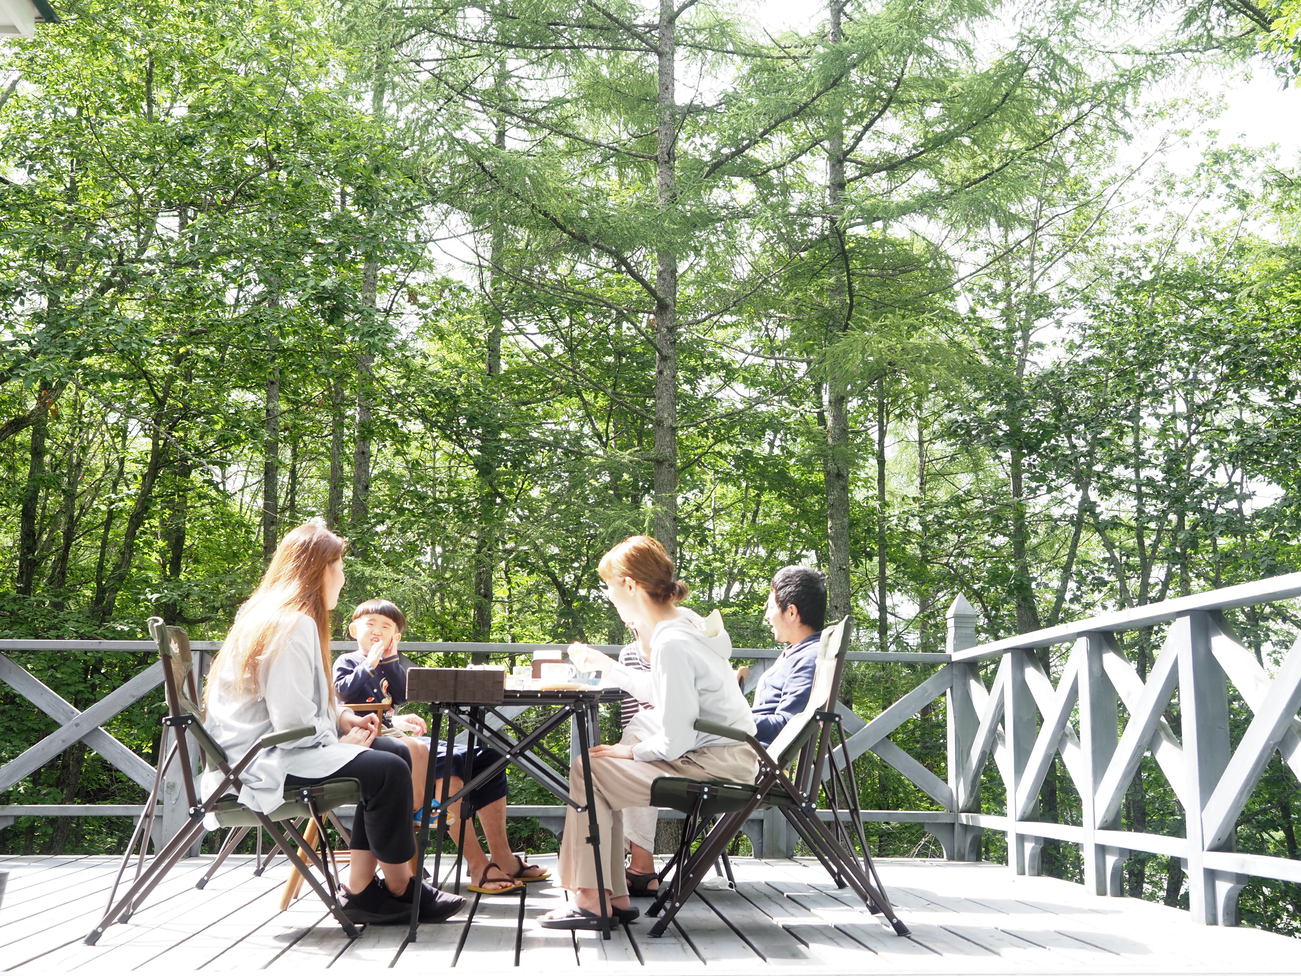
[[[1120,894],[1119,872],[1112,871],[1120,852],[1097,842],[1095,833],[1118,825],[1119,815],[1098,822],[1098,786],[1116,751],[1116,690],[1103,670],[1107,634],[1084,635],[1084,666],[1080,670],[1080,746],[1085,783],[1080,796],[1084,820],[1084,886],[1094,894]]]

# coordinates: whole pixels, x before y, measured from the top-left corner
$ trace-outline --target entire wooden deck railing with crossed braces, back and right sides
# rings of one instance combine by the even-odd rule
[[[1301,639],[1266,666],[1235,636],[1226,612],[1301,596],[1301,573],[1216,590],[1085,621],[977,644],[977,616],[958,597],[948,612],[946,653],[853,652],[852,661],[907,664],[922,677],[879,714],[864,720],[842,712],[851,759],[872,753],[896,769],[933,802],[932,809],[865,809],[876,822],[921,824],[946,856],[980,856],[984,830],[1007,835],[1008,860],[1019,873],[1039,872],[1045,839],[1080,845],[1085,884],[1095,894],[1121,893],[1121,868],[1133,851],[1179,858],[1188,873],[1190,910],[1209,924],[1236,924],[1237,894],[1253,877],[1301,882],[1301,861],[1233,850],[1237,819],[1270,757],[1279,752],[1301,778]],[[1120,649],[1120,636],[1163,627],[1164,640],[1146,679]],[[527,655],[544,644],[407,643],[406,655],[470,653],[476,660]],[[350,649],[340,643],[337,651]],[[1053,648],[1045,668],[1037,653]],[[195,642],[211,653],[213,644]],[[0,681],[49,714],[60,727],[0,768],[0,793],[30,776],[78,740],[99,752],[147,791],[154,768],[113,739],[103,725],[161,683],[151,664],[100,701],[78,712],[16,662],[31,651],[152,651],[148,642],[0,640]],[[775,656],[773,649],[738,649],[756,662],[749,682]],[[1253,718],[1231,747],[1229,692]],[[1171,725],[1177,692],[1180,739]],[[934,770],[891,737],[932,703],[947,712],[946,768]],[[1120,721],[1120,708],[1125,721]],[[1120,829],[1120,807],[1140,760],[1150,755],[1185,811],[1183,837]],[[1055,759],[1081,798],[1081,822],[1041,819],[1039,795]],[[985,776],[989,760],[997,776]],[[870,760],[869,760],[870,761]],[[1000,781],[1000,787],[997,782]],[[989,790],[1000,789],[997,802]],[[982,793],[982,790],[985,793]],[[164,794],[160,830],[185,817],[178,795]],[[982,813],[1002,807],[1002,815]],[[139,806],[0,806],[0,829],[22,815],[139,816]],[[559,807],[513,806],[514,816],[539,816],[558,826]],[[552,822],[554,821],[554,822]],[[747,833],[756,852],[788,852],[794,838],[779,813],[757,815]]]

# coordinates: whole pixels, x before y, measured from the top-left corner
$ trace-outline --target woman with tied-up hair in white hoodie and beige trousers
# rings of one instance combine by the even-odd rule
[[[658,541],[644,535],[624,539],[601,558],[597,571],[606,599],[636,631],[650,664],[653,709],[641,713],[650,720],[630,724],[617,744],[588,752],[606,904],[617,920],[631,921],[637,911],[628,902],[623,872],[623,811],[650,806],[650,783],[661,776],[753,779],[758,764],[748,746],[699,733],[695,722],[704,718],[753,734],[755,720],[729,662],[731,643],[712,642],[679,613],[687,587],[675,579],[673,560]],[[593,653],[582,644],[570,649],[579,666]],[[579,760],[570,766],[570,795],[585,803]],[[587,812],[566,808],[558,881],[574,894],[574,907],[543,919],[544,928],[604,924],[587,833]]]

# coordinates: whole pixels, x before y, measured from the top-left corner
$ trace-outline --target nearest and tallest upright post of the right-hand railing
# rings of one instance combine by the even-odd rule
[[[1228,683],[1211,653],[1210,617],[1206,612],[1176,617],[1170,625],[1179,653],[1179,709],[1188,770],[1184,808],[1188,838],[1188,910],[1207,925],[1220,921],[1216,873],[1205,865],[1206,834],[1202,815],[1229,759]]]

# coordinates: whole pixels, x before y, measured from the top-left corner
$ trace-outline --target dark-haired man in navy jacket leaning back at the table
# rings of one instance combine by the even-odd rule
[[[755,688],[755,734],[769,746],[804,711],[813,690],[818,639],[826,621],[826,576],[807,566],[783,566],[773,576],[764,619],[788,644]]]

